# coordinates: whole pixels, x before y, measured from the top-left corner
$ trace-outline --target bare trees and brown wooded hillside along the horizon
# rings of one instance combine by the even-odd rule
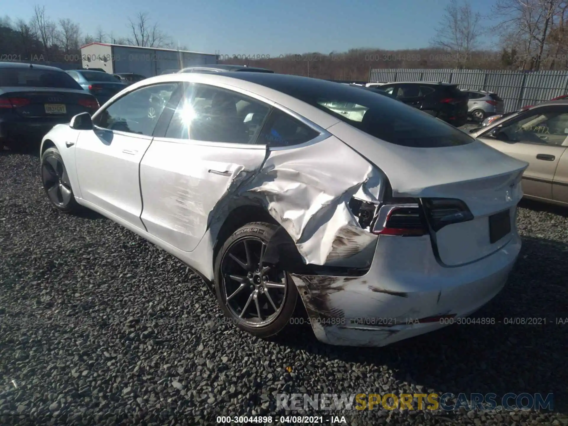
[[[219,55],[219,62],[353,81],[367,80],[371,68],[567,70],[567,11],[568,0],[495,0],[483,16],[473,11],[470,0],[450,0],[436,24],[435,36],[421,49],[354,48],[277,57]],[[496,42],[487,45],[489,37]],[[73,60],[81,57],[81,45],[93,41],[177,47],[147,12],[128,18],[121,34],[105,32],[100,26],[94,34],[85,34],[70,19],[52,19],[44,6],[35,6],[28,20],[0,19],[0,60],[24,60],[34,55],[45,61]],[[187,50],[185,46],[179,48]]]

